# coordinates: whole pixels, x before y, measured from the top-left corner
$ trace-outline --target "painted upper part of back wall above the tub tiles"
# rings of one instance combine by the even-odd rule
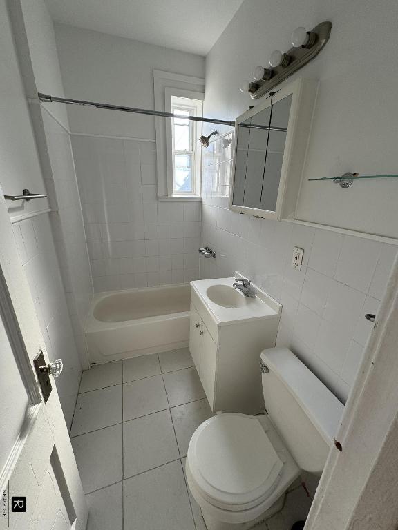
[[[153,109],[153,70],[204,77],[200,55],[55,24],[64,90],[69,98]],[[155,139],[155,119],[68,106],[73,133]]]

